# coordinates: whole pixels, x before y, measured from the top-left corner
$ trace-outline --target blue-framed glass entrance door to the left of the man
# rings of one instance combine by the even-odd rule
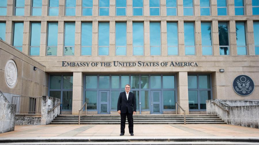
[[[99,114],[109,114],[110,106],[109,106],[109,91],[99,91]]]

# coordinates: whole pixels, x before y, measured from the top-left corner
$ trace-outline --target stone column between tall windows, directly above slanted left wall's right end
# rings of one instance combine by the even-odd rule
[[[46,46],[47,46],[47,21],[41,21],[40,56],[46,56]]]

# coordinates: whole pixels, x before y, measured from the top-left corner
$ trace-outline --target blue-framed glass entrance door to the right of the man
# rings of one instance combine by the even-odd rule
[[[151,114],[162,114],[161,91],[151,91]]]

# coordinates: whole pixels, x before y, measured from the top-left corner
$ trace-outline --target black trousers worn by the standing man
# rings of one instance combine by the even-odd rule
[[[129,123],[129,133],[133,133],[133,113],[129,113],[128,110],[126,113],[121,113],[121,133],[125,133],[125,122],[126,116]]]

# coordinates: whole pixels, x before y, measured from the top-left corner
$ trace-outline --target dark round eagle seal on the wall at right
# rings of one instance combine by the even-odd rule
[[[254,82],[250,77],[240,75],[234,79],[233,89],[238,95],[247,96],[254,91]]]

